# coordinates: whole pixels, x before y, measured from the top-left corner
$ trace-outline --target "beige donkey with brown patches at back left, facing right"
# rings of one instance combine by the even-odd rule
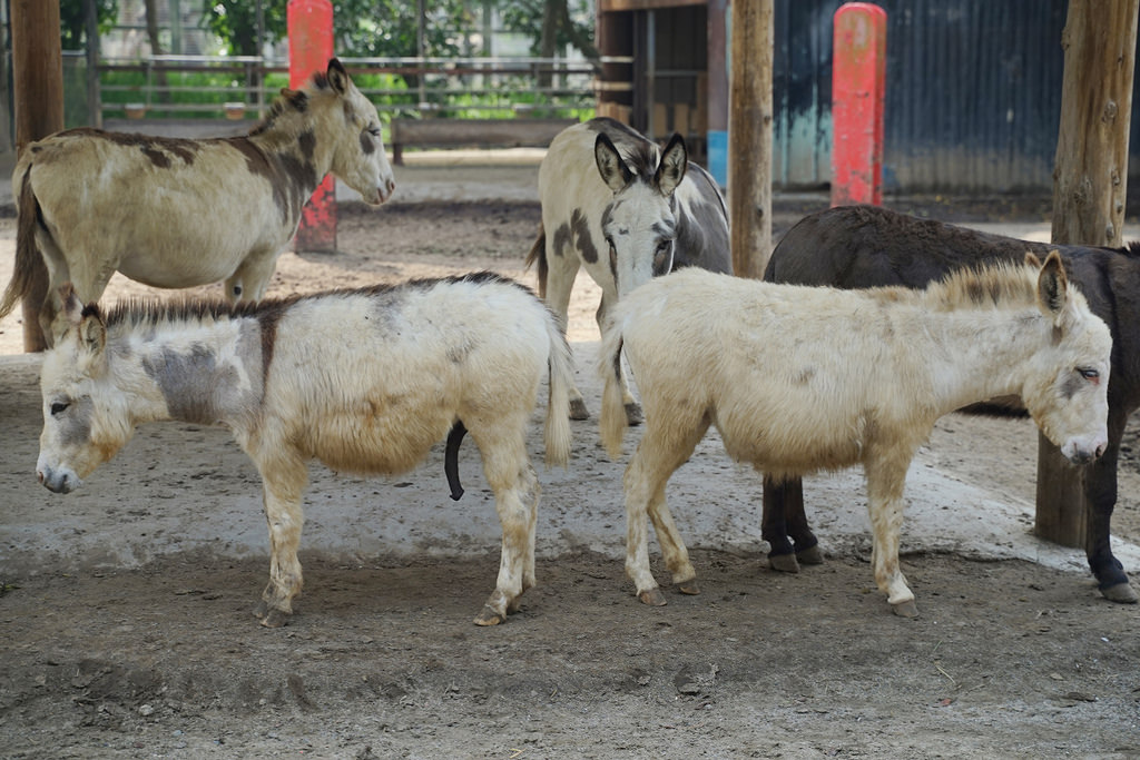
[[[16,263],[0,317],[44,280],[44,265],[47,345],[59,286],[70,281],[81,300],[96,301],[116,270],[154,287],[225,280],[227,297],[258,301],[329,172],[370,205],[396,188],[376,107],[336,58],[306,88],[283,89],[245,137],[83,128],[32,142],[13,172]]]

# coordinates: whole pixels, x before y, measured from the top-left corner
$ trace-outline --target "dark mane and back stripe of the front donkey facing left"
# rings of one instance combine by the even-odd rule
[[[194,299],[190,296],[169,300],[135,297],[120,301],[108,308],[105,312],[103,312],[98,305],[89,304],[83,309],[83,313],[84,316],[101,313],[108,328],[117,327],[121,329],[185,322],[214,322],[228,319],[243,319],[246,317],[276,320],[280,317],[282,312],[303,301],[356,295],[374,296],[393,291],[426,291],[435,285],[456,283],[472,283],[475,285],[483,283],[505,283],[514,285],[519,289],[532,294],[531,289],[526,285],[516,283],[508,277],[504,277],[492,271],[475,271],[466,275],[453,275],[448,277],[426,277],[398,284],[377,283],[363,287],[335,288],[331,291],[323,291],[320,293],[295,293],[283,297],[266,299],[258,303],[230,303],[220,299]]]

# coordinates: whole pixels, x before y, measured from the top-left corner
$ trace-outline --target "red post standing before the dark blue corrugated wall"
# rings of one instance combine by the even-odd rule
[[[882,203],[887,11],[848,2],[834,15],[831,205]]]

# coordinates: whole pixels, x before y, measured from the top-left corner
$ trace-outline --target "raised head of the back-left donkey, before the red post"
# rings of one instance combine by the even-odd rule
[[[318,77],[315,99],[326,88],[335,101],[318,117],[333,139],[329,171],[359,193],[365,203],[384,203],[396,189],[396,179],[384,153],[376,106],[357,89],[336,58],[328,62],[324,79]]]

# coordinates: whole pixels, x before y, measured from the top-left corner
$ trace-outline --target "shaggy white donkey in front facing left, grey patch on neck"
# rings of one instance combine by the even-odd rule
[[[405,472],[459,424],[503,524],[498,581],[475,623],[504,622],[535,585],[527,424],[548,365],[546,460],[565,464],[573,366],[553,314],[522,285],[482,272],[261,304],[131,302],[106,314],[65,286],[62,302],[67,328],[41,377],[40,482],[75,490],[140,423],[226,425],[263,483],[261,624],[284,624],[301,590],[306,463]]]

